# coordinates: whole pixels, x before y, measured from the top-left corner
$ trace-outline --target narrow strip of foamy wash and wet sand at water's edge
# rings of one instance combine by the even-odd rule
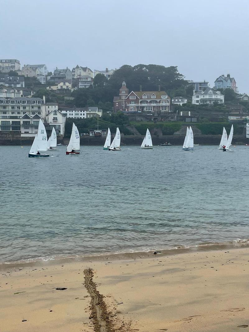
[[[223,250],[223,249],[240,249],[243,247],[249,247],[249,238],[237,239],[227,242],[207,242],[200,243],[191,246],[178,245],[172,248],[159,248],[155,247],[154,250],[145,251],[119,251],[119,252],[104,252],[94,253],[85,255],[55,255],[47,257],[36,257],[27,258],[16,261],[0,262],[0,269],[13,268],[20,266],[36,266],[36,265],[56,265],[62,263],[72,262],[93,262],[93,261],[104,261],[106,259],[112,260],[129,260],[136,258],[147,258],[148,256],[173,256],[183,253],[203,252],[212,250]]]

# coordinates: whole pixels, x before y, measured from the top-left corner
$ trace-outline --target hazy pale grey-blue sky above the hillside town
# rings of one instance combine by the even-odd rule
[[[249,92],[247,0],[1,0],[1,58],[77,64],[178,66],[186,79],[230,73]]]

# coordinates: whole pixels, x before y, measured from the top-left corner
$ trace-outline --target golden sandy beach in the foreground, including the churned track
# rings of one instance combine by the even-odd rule
[[[248,262],[248,247],[221,247],[4,264],[0,329],[247,331]]]

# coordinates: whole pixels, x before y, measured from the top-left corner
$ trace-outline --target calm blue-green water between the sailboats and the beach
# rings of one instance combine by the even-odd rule
[[[248,237],[248,147],[29,149],[0,147],[3,262]]]

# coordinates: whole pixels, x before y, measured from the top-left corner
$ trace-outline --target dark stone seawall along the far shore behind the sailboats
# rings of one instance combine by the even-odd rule
[[[170,142],[173,145],[182,145],[185,135],[163,135],[152,136],[153,145],[160,145],[161,143]],[[104,145],[106,137],[81,136],[80,144],[82,145]],[[218,145],[221,135],[195,135],[194,143],[201,145]],[[21,137],[20,134],[0,133],[0,145],[32,145],[34,137]],[[141,145],[143,136],[131,135],[121,136],[121,145]],[[69,139],[63,139],[62,136],[57,136],[57,142],[61,144],[68,144]],[[232,143],[234,145],[249,144],[249,139],[244,135],[234,135]]]

